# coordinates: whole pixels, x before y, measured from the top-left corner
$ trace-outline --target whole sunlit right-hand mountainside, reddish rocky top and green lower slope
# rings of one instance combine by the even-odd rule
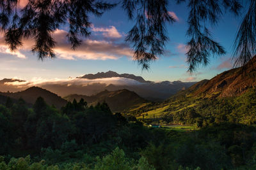
[[[202,80],[163,103],[150,103],[124,114],[182,124],[200,118],[208,122],[253,124],[256,120],[255,68],[256,57],[244,68],[231,69],[211,80]]]

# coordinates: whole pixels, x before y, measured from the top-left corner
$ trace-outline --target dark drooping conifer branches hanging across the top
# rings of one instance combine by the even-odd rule
[[[109,0],[109,2],[111,2]],[[0,27],[4,31],[4,39],[10,50],[17,50],[22,45],[22,39],[35,39],[32,52],[37,53],[40,59],[55,57],[56,42],[52,33],[61,25],[68,25],[67,39],[75,50],[81,44],[81,38],[90,36],[89,14],[100,17],[104,11],[122,4],[134,26],[127,33],[126,41],[134,48],[134,59],[143,68],[148,68],[152,60],[163,55],[164,46],[168,42],[166,23],[175,22],[169,15],[168,0],[116,0],[109,3],[107,0],[28,0],[24,8],[19,7],[19,0],[3,0],[0,2]],[[223,55],[225,49],[214,41],[207,25],[216,25],[229,10],[238,15],[242,8],[247,13],[237,32],[234,43],[235,66],[244,66],[256,52],[256,1],[242,0],[173,0],[176,3],[188,3],[188,32],[187,43],[189,71],[201,64],[209,63],[212,55]],[[242,3],[244,6],[242,6]]]

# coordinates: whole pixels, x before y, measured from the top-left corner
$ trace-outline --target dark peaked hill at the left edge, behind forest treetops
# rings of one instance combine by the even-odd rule
[[[34,104],[38,97],[43,97],[47,104],[53,104],[56,108],[61,108],[67,103],[67,101],[60,96],[40,87],[30,87],[20,92],[0,92],[0,96],[11,97],[13,99],[22,97],[26,103],[30,104]]]

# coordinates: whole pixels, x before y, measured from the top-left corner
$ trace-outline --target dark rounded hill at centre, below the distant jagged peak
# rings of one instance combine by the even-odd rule
[[[79,101],[81,98],[83,98],[84,101],[86,101],[89,105],[95,105],[97,103],[106,101],[109,108],[113,112],[124,111],[125,109],[133,108],[134,106],[138,106],[147,102],[145,99],[138,96],[138,94],[135,92],[131,92],[126,89],[116,90],[113,92],[104,90],[94,96],[71,94],[67,97],[64,97],[64,99],[67,99],[67,101],[73,101],[74,99]]]

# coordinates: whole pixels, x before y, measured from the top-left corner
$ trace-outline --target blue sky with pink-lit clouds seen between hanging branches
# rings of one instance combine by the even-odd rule
[[[125,43],[125,34],[131,29],[134,22],[128,20],[120,6],[107,11],[102,17],[90,16],[92,22],[92,36],[84,39],[76,51],[71,50],[65,35],[67,27],[63,25],[54,32],[57,41],[55,59],[38,60],[31,52],[33,41],[25,40],[22,48],[12,53],[4,44],[0,36],[0,79],[19,78],[32,80],[33,78],[68,78],[83,74],[116,71],[142,76],[150,81],[200,81],[211,79],[232,68],[232,45],[241,17],[234,17],[224,13],[218,25],[210,27],[212,37],[225,47],[226,55],[212,57],[206,67],[189,74],[186,63],[186,30],[188,29],[188,8],[186,4],[170,3],[168,11],[177,22],[167,25],[170,41],[166,43],[166,54],[152,62],[150,69],[141,70],[138,63],[132,60],[131,45]],[[243,14],[243,11],[242,11]],[[240,15],[242,16],[242,15]]]

